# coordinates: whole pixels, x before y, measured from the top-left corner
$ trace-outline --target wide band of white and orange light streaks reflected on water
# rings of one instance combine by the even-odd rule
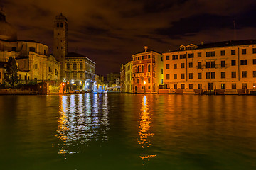
[[[90,141],[106,142],[109,130],[107,94],[60,96],[57,137],[59,154],[75,154]],[[86,145],[85,145],[86,144]]]

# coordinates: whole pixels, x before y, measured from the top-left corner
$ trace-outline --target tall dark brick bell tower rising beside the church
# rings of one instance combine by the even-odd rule
[[[60,62],[60,81],[65,78],[65,55],[68,55],[68,20],[62,13],[55,17],[53,56]]]

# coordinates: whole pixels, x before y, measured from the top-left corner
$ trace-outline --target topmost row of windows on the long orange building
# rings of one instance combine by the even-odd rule
[[[247,49],[242,49],[242,55],[246,55],[247,54]],[[231,50],[231,55],[235,55],[236,54],[236,50]],[[252,54],[256,54],[256,48],[252,48]],[[220,51],[220,56],[225,56],[226,52],[225,50],[221,50]],[[181,54],[179,55],[180,59],[185,59],[186,58],[186,54]],[[188,54],[188,58],[193,58],[194,57],[194,53],[189,53]],[[197,57],[202,57],[202,52],[197,52]],[[215,57],[215,51],[211,51],[211,52],[206,52],[206,57]],[[173,60],[177,60],[178,59],[178,55],[172,55],[172,59]],[[170,60],[170,56],[166,55],[166,60]]]

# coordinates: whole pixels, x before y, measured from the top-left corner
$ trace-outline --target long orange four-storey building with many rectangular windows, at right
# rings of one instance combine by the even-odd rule
[[[166,92],[220,94],[256,89],[256,40],[181,45],[164,52]]]

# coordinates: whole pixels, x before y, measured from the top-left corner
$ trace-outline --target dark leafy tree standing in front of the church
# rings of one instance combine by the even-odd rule
[[[14,87],[14,84],[18,83],[18,67],[13,57],[9,57],[8,59],[4,78],[6,82],[11,85],[11,88]]]

